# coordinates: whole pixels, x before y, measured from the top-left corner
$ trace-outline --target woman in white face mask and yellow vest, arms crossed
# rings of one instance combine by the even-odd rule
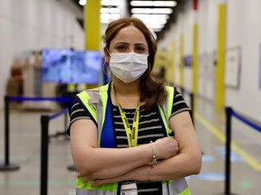
[[[156,40],[137,18],[109,24],[104,36],[111,83],[71,102],[76,194],[186,194],[201,152],[189,107],[176,88],[151,76]]]

